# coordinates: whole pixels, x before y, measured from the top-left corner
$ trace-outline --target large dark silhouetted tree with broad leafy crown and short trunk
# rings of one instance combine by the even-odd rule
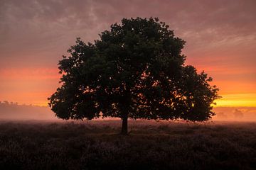
[[[185,66],[184,45],[158,18],[124,18],[94,43],[78,38],[49,106],[62,119],[122,118],[124,135],[128,118],[208,120],[218,89]]]

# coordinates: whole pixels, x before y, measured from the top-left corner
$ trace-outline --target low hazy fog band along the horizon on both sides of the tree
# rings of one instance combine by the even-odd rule
[[[213,108],[216,115],[211,120],[256,121],[256,107]],[[107,118],[109,120],[110,118]],[[0,102],[0,120],[59,120],[47,106],[19,105]],[[100,119],[97,119],[100,120]]]

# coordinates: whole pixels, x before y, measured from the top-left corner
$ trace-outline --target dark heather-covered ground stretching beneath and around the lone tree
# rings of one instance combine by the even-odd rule
[[[256,169],[256,123],[0,123],[0,169]]]

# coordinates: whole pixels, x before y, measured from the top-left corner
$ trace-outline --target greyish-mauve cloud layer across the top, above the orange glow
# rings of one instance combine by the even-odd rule
[[[191,47],[206,43],[210,47],[229,39],[255,38],[255,6],[255,1],[248,0],[3,1],[1,50],[7,54],[28,47],[42,51],[42,45],[68,45],[75,36],[92,41],[111,23],[136,16],[159,17]]]

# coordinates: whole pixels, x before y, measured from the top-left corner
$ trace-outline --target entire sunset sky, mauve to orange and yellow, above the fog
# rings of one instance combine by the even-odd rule
[[[217,107],[256,107],[255,0],[0,0],[0,101],[47,106],[58,61],[122,18],[158,17],[186,45],[186,64],[213,77]]]

